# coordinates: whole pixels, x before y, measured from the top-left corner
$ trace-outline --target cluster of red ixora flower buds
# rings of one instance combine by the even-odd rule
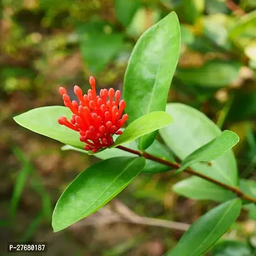
[[[95,153],[103,147],[113,145],[112,136],[113,134],[122,134],[122,131],[118,130],[127,121],[128,115],[122,115],[125,101],[120,100],[119,90],[115,92],[113,88],[102,89],[100,96],[97,96],[94,77],[90,77],[89,83],[92,89],[89,89],[88,93],[84,95],[79,86],[74,86],[74,93],[77,95],[79,104],[76,100],[71,102],[67,90],[60,87],[64,104],[72,111],[73,115],[70,122],[65,116],[61,116],[58,122],[79,132],[80,140],[87,144],[84,149],[92,150]],[[113,101],[114,97],[115,101]]]

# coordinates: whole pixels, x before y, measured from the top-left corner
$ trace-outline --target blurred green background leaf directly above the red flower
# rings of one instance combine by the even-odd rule
[[[88,22],[79,26],[80,50],[83,61],[93,73],[100,72],[120,51],[124,35],[112,31],[103,22]]]

